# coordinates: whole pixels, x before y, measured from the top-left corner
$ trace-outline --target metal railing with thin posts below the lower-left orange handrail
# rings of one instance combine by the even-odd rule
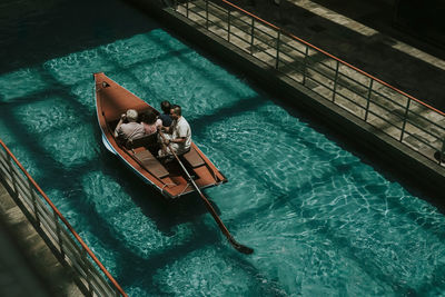
[[[0,149],[0,174],[4,186],[10,189],[13,198],[20,201],[28,219],[51,241],[58,258],[76,270],[87,295],[127,297],[119,284],[1,139],[0,146],[2,148]]]

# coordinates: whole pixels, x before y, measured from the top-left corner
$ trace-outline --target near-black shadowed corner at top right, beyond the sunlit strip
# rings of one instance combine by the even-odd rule
[[[313,0],[370,28],[445,59],[441,0]]]

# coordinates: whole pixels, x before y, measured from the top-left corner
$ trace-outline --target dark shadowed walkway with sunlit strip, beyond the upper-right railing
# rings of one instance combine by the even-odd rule
[[[393,26],[389,0],[234,3],[445,111],[445,50]]]

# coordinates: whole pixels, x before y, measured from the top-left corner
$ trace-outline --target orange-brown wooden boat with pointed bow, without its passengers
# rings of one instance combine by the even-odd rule
[[[96,81],[96,109],[99,127],[102,131],[105,147],[115,154],[145,182],[154,186],[165,197],[175,199],[195,191],[188,176],[184,172],[178,161],[164,162],[157,159],[150,146],[156,142],[156,136],[147,136],[127,143],[120,143],[115,138],[113,131],[120,115],[128,109],[136,109],[139,115],[148,109],[155,110],[147,102],[129,92],[109,79],[105,73],[95,73]],[[192,130],[192,127],[191,127]],[[188,152],[180,156],[182,164],[194,176],[199,189],[226,182],[226,177],[192,142]]]

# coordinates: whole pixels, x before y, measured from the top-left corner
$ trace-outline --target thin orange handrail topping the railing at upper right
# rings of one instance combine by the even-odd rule
[[[319,51],[319,52],[326,55],[327,57],[329,57],[329,58],[332,58],[332,59],[334,59],[334,60],[336,60],[336,61],[338,61],[338,62],[340,62],[340,63],[343,63],[343,65],[345,65],[345,66],[347,66],[347,67],[354,69],[354,70],[357,71],[357,72],[360,72],[362,75],[364,75],[364,76],[366,76],[366,77],[368,77],[368,78],[370,78],[370,79],[373,79],[373,80],[375,80],[375,81],[377,81],[377,82],[379,82],[379,83],[382,83],[382,85],[388,87],[389,89],[392,89],[392,90],[394,90],[394,91],[396,91],[396,92],[398,92],[398,93],[400,93],[400,95],[403,95],[403,96],[405,96],[405,97],[407,97],[407,98],[409,98],[409,99],[416,101],[417,103],[423,105],[423,106],[425,106],[426,108],[429,108],[429,109],[436,111],[437,113],[439,113],[439,115],[442,115],[442,116],[445,116],[445,112],[443,112],[443,111],[441,111],[441,110],[438,110],[438,109],[436,109],[436,108],[429,106],[428,103],[425,103],[424,101],[422,101],[422,100],[419,100],[419,99],[417,99],[417,98],[415,98],[415,97],[413,97],[413,96],[411,96],[411,95],[408,95],[408,93],[406,93],[406,92],[404,92],[404,91],[397,89],[396,87],[390,86],[389,83],[387,83],[387,82],[385,82],[385,81],[383,81],[383,80],[380,80],[380,79],[378,79],[378,78],[376,78],[376,77],[374,77],[374,76],[367,73],[366,71],[364,71],[364,70],[362,70],[362,69],[359,69],[359,68],[357,68],[357,67],[355,67],[355,66],[353,66],[353,65],[350,65],[350,63],[348,63],[348,62],[346,62],[346,61],[344,61],[344,60],[342,60],[342,59],[339,59],[339,58],[337,58],[337,57],[335,57],[335,56],[333,56],[333,55],[330,55],[329,52],[327,52],[327,51],[325,51],[325,50],[323,50],[323,49],[320,49],[320,48],[317,48],[316,46],[314,46],[314,44],[307,42],[306,40],[304,40],[304,39],[301,39],[301,38],[299,38],[299,37],[296,37],[296,36],[294,36],[293,33],[286,31],[285,29],[281,29],[281,28],[279,28],[279,27],[277,27],[277,26],[275,26],[275,24],[273,24],[273,23],[270,23],[270,22],[264,20],[264,19],[261,19],[261,18],[259,18],[259,17],[253,14],[251,12],[248,12],[247,10],[244,10],[243,8],[236,6],[236,4],[234,4],[234,3],[231,3],[231,2],[229,2],[229,1],[227,1],[227,0],[219,0],[219,1],[221,1],[221,2],[224,2],[224,3],[226,3],[226,4],[230,6],[230,7],[233,7],[233,8],[237,9],[237,10],[239,10],[239,11],[243,11],[243,12],[246,13],[247,16],[249,16],[249,17],[251,17],[251,18],[254,18],[254,19],[256,19],[256,20],[258,20],[258,21],[260,21],[260,22],[263,22],[263,23],[265,23],[265,24],[267,24],[267,26],[274,28],[274,29],[277,30],[277,31],[280,31],[281,33],[286,34],[287,37],[290,37],[290,38],[293,38],[293,39],[295,39],[295,40],[298,40],[299,42],[301,42],[301,43],[308,46],[309,48],[312,48],[312,49],[314,49],[314,50],[316,50],[316,51]]]

